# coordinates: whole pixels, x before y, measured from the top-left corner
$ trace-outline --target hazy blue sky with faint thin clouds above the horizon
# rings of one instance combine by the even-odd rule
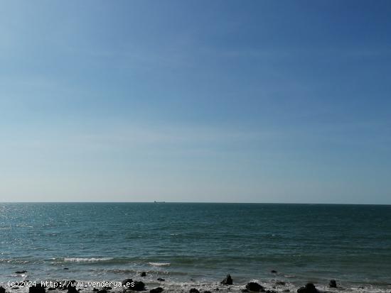
[[[0,201],[391,204],[390,1],[4,1]]]

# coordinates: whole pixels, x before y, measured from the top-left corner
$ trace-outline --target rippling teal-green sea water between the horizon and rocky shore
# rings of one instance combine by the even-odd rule
[[[228,273],[234,291],[336,279],[348,291],[390,292],[391,206],[0,204],[1,284],[133,277],[154,287],[162,277],[162,287],[210,288]]]

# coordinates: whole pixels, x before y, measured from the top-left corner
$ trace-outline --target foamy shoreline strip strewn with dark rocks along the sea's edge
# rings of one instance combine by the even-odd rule
[[[227,281],[228,278],[228,281]],[[136,284],[136,285],[134,285]],[[284,282],[278,280],[255,280],[250,279],[248,282],[235,282],[227,275],[223,281],[216,282],[197,282],[191,280],[189,282],[176,282],[170,280],[169,277],[158,278],[153,280],[146,278],[144,272],[138,277],[128,278],[122,281],[80,281],[80,280],[24,280],[18,283],[15,282],[0,282],[0,293],[127,293],[127,292],[181,292],[181,293],[208,293],[208,292],[265,292],[265,293],[333,293],[333,292],[372,292],[372,293],[388,293],[391,290],[391,284],[382,286],[364,284],[362,286],[346,287],[335,280],[331,280],[328,284],[321,283],[295,284],[293,282]],[[312,289],[306,288],[307,286]],[[1,289],[4,288],[4,289]],[[156,289],[158,288],[158,289]],[[156,291],[157,290],[157,291]],[[314,291],[315,290],[315,291]]]

